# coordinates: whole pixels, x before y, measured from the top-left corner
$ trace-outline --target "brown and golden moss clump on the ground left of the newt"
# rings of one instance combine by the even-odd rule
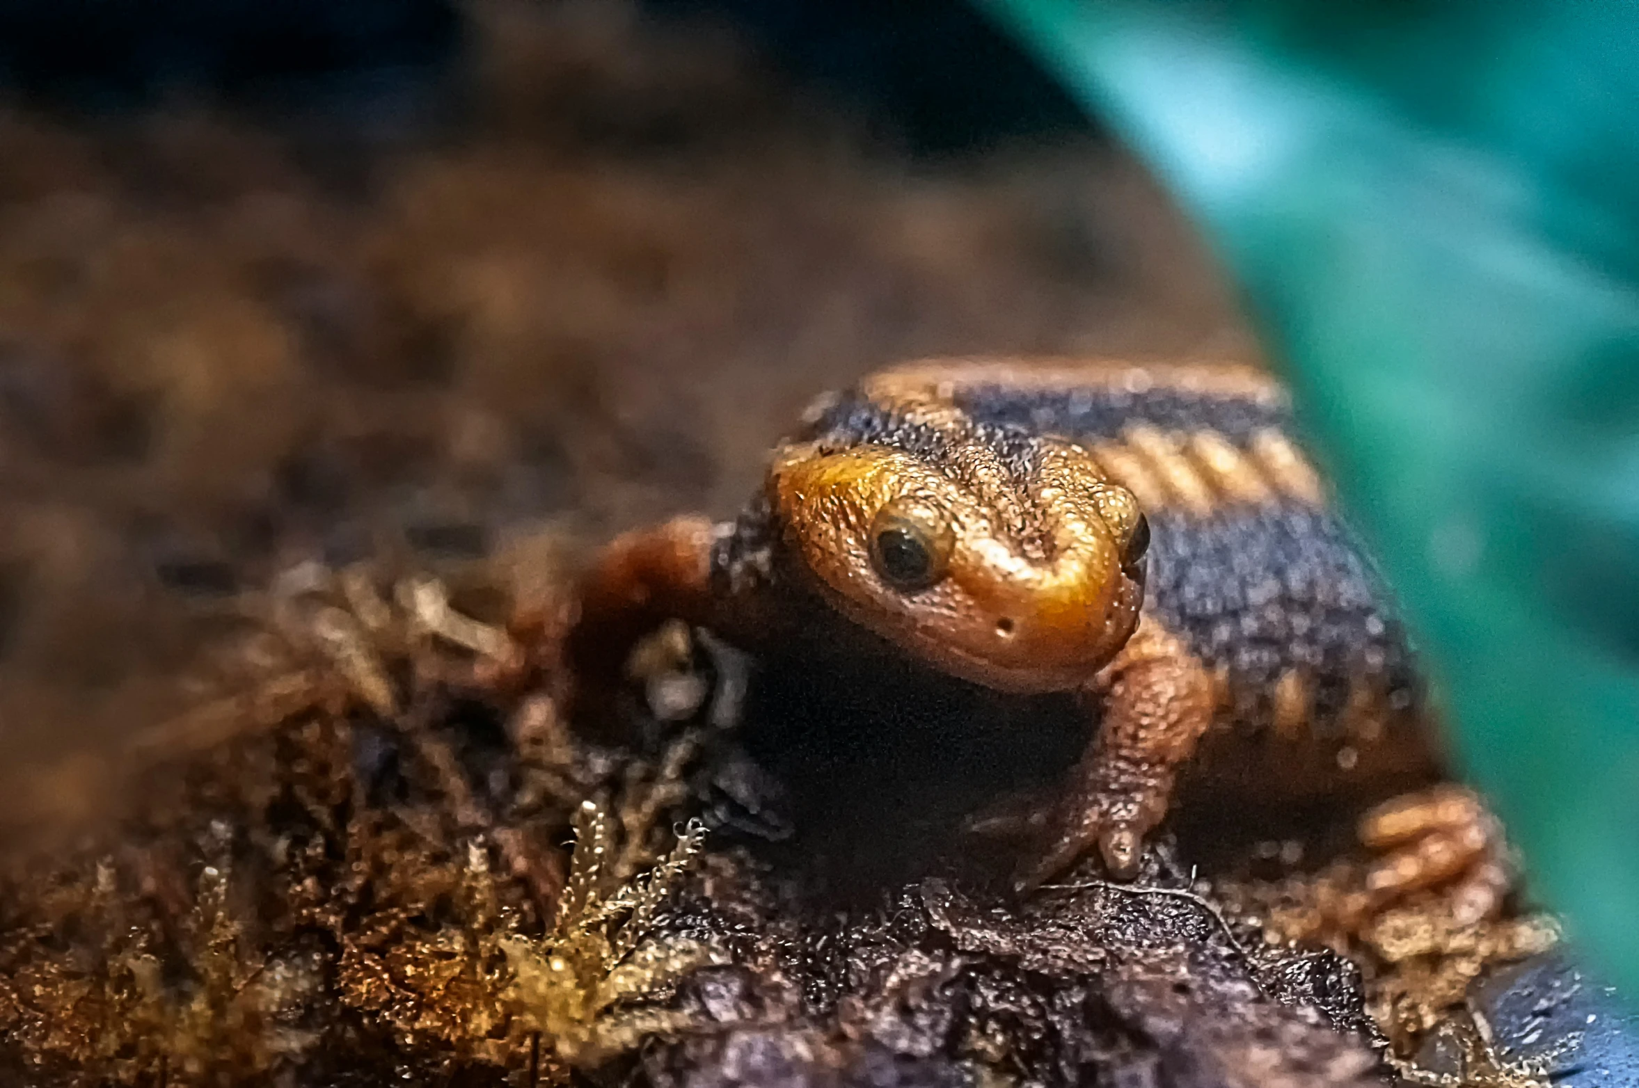
[[[518,682],[511,636],[431,578],[398,580],[397,608],[362,578],[310,572],[244,603],[277,605],[288,651],[249,695],[139,734],[107,823],[0,852],[0,1072],[482,1080],[544,1039],[551,1073],[664,1027],[628,1006],[713,962],[646,939],[700,849],[697,826],[665,849],[698,737],[654,762],[598,754],[562,731],[551,677]],[[315,649],[315,618],[344,652]],[[505,750],[474,747],[484,721]]]

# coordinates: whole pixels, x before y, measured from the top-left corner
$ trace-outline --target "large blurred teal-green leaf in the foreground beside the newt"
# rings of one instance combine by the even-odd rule
[[[1213,241],[1462,765],[1639,993],[1639,5],[978,2]]]

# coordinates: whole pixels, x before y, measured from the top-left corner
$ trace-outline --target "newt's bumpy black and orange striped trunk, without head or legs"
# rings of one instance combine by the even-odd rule
[[[1088,367],[1039,388],[998,375],[949,401],[1019,480],[1034,470],[1039,437],[1056,434],[1139,495],[1152,528],[1144,610],[1218,678],[1219,731],[1290,749],[1311,778],[1424,762],[1406,750],[1419,749],[1414,736],[1396,736],[1393,754],[1369,750],[1392,731],[1418,732],[1418,673],[1372,562],[1298,452],[1287,397],[1251,377],[1192,387],[1188,374],[1157,383],[1149,369]],[[952,446],[870,385],[816,405],[790,442],[890,446],[933,464]],[[1236,475],[1239,490],[1226,483]],[[779,541],[777,515],[757,495],[713,551],[720,590],[775,577]],[[1277,793],[1328,787],[1267,777]]]

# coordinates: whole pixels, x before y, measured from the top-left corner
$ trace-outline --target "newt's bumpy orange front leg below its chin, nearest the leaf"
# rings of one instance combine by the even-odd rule
[[[1213,682],[1200,659],[1144,616],[1126,647],[1085,691],[1098,734],[1074,772],[1046,855],[1018,882],[1033,888],[1096,847],[1110,873],[1137,873],[1144,836],[1167,814],[1178,768],[1213,719]]]

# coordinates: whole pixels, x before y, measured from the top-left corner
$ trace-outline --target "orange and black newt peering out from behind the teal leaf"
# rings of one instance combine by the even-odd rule
[[[1372,904],[1508,888],[1444,782],[1405,624],[1328,501],[1285,388],[1246,365],[957,359],[816,400],[728,523],[610,542],[570,646],[608,669],[679,618],[749,651],[820,637],[1000,691],[1075,691],[1092,739],[1028,890],[1083,855],[1131,878],[1192,760],[1269,796],[1382,783]]]

